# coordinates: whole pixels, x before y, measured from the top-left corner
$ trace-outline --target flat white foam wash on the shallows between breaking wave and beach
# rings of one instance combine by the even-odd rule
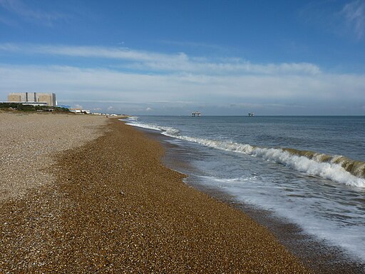
[[[201,183],[215,186],[225,193],[235,197],[235,200],[247,203],[264,210],[274,209],[274,215],[298,224],[306,233],[328,240],[333,245],[344,248],[347,253],[356,256],[365,262],[365,247],[361,245],[364,240],[365,229],[363,225],[349,225],[339,220],[329,220],[322,214],[308,213],[308,208],[317,208],[318,198],[307,197],[305,193],[296,192],[298,198],[289,198],[288,193],[276,191],[267,178],[237,177],[217,178],[214,176],[198,176]],[[257,189],[259,188],[259,191]],[[289,193],[290,194],[290,193]],[[346,198],[345,198],[346,199]],[[332,201],[321,201],[321,209],[333,206]],[[336,205],[342,210],[351,210],[349,205]],[[288,210],[290,208],[290,210]],[[348,213],[349,214],[349,213]]]

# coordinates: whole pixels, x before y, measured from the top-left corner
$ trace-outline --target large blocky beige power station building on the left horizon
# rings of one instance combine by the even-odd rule
[[[8,95],[8,103],[56,106],[56,93],[13,92]]]

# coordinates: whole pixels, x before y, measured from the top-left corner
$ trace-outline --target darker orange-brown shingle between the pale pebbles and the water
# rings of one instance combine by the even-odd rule
[[[0,273],[309,273],[266,228],[165,168],[160,143],[108,122],[107,134],[51,152],[53,183],[3,199]]]

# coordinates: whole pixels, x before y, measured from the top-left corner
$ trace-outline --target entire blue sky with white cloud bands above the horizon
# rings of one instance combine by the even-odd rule
[[[365,0],[0,0],[0,101],[365,115]]]

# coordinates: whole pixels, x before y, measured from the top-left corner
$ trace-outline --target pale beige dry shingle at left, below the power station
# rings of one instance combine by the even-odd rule
[[[0,113],[0,201],[19,198],[54,181],[49,168],[59,151],[101,136],[105,116]]]

